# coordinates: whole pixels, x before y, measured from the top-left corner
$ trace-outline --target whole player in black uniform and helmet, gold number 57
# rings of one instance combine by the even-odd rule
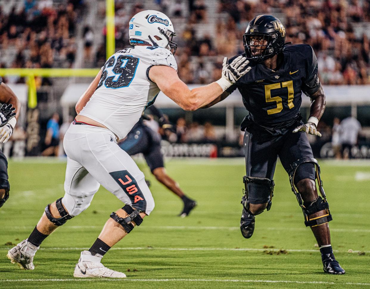
[[[243,45],[252,68],[235,85],[206,107],[239,89],[249,111],[241,124],[244,131],[246,162],[245,195],[240,230],[252,237],[255,216],[270,210],[277,156],[289,174],[290,184],[303,210],[305,225],[320,246],[324,272],[344,274],[330,245],[328,222],[332,220],[322,187],[320,168],[313,158],[306,134],[321,136],[316,130],[325,109],[325,94],[317,76],[317,59],[310,45],[285,43],[285,28],[271,15],[250,21]],[[240,57],[235,56],[230,59]],[[301,121],[302,91],[310,97],[310,116]],[[318,196],[315,178],[322,197]]]

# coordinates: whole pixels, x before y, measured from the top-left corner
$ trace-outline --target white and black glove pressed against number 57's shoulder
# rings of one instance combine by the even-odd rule
[[[228,64],[228,58],[225,57],[222,63],[223,67],[221,78],[217,80],[216,83],[218,83],[223,91],[225,91],[235,82],[237,82],[239,78],[244,76],[250,69],[252,69],[250,66],[245,68],[248,64],[249,60],[242,55],[239,55],[230,64]]]

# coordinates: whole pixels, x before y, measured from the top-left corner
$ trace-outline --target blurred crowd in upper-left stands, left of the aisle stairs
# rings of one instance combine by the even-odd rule
[[[58,5],[51,0],[24,0],[23,7],[14,6],[9,14],[0,7],[1,67],[72,67],[76,55],[76,21],[81,8],[76,0]],[[24,80],[12,77],[11,82]],[[43,79],[42,85],[48,82]]]

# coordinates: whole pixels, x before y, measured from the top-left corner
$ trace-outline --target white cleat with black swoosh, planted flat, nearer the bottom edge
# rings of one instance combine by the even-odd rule
[[[91,255],[90,251],[82,251],[80,260],[74,268],[74,277],[78,278],[126,278],[124,273],[113,271],[101,264],[102,255]]]

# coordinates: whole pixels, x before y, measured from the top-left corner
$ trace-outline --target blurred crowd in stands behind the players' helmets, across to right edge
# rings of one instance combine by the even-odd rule
[[[243,52],[242,35],[250,19],[261,13],[277,14],[286,28],[286,41],[310,44],[319,59],[320,79],[324,84],[369,84],[370,45],[366,29],[355,25],[370,21],[370,1],[333,0],[220,0],[215,15],[209,15],[204,0],[154,1],[169,16],[186,21],[178,33],[176,52],[179,76],[187,83],[210,83],[219,78],[222,57]],[[126,23],[142,4],[127,10],[125,1],[116,6],[117,47],[129,45]],[[189,11],[187,15],[184,10]],[[212,19],[216,19],[215,23]],[[178,22],[178,21],[177,21]],[[176,22],[175,22],[176,24]],[[199,25],[209,27],[197,35]],[[359,25],[356,25],[359,27]],[[357,33],[355,33],[357,32]],[[105,35],[105,31],[103,31]],[[105,62],[105,44],[98,49],[96,60]]]

